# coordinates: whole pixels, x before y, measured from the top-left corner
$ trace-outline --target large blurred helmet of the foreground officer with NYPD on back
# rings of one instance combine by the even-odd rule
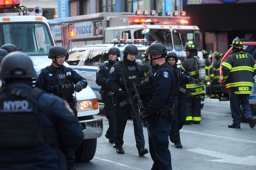
[[[12,52],[6,55],[2,61],[0,71],[1,79],[9,78],[35,78],[36,71],[32,60],[26,53]]]

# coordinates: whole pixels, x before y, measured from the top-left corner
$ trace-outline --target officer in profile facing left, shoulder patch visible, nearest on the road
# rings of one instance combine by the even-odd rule
[[[142,84],[141,90],[151,89],[151,95],[146,92],[150,99],[149,102],[144,102],[145,111],[140,118],[147,123],[149,129],[149,151],[154,161],[151,169],[172,169],[168,146],[177,89],[175,76],[170,64],[165,62],[166,48],[163,44],[151,44],[147,53],[153,66],[152,76]]]

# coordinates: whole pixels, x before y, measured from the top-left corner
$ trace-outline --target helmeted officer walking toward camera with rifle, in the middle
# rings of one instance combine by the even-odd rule
[[[125,151],[122,148],[124,144],[123,137],[127,119],[131,112],[131,106],[127,103],[128,94],[125,92],[125,85],[120,81],[121,77],[124,77],[126,86],[129,92],[134,96],[134,89],[132,83],[135,82],[137,88],[140,86],[141,80],[144,78],[144,71],[142,67],[135,62],[135,57],[138,54],[138,49],[133,44],[129,44],[125,47],[123,61],[119,61],[111,67],[109,76],[107,77],[107,87],[114,93],[116,93],[115,115],[116,115],[116,139],[115,147],[116,153],[124,154]],[[124,103],[124,104],[122,104]],[[132,103],[136,117],[133,116],[134,133],[136,140],[136,147],[138,149],[139,156],[144,156],[148,153],[145,147],[145,140],[143,129],[139,121],[139,108],[137,104]]]

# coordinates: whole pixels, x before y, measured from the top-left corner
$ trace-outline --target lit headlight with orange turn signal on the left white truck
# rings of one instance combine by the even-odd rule
[[[97,98],[87,99],[84,101],[77,101],[77,112],[81,111],[90,111],[98,109],[98,101]]]

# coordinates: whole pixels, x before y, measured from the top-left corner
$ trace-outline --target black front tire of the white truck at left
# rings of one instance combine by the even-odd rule
[[[93,116],[83,117],[83,120],[93,119]],[[95,156],[97,138],[85,139],[75,152],[76,162],[88,162]]]

